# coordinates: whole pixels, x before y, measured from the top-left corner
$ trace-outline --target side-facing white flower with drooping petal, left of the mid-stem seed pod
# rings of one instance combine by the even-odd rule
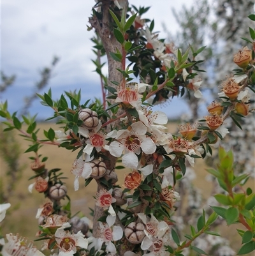
[[[82,156],[73,162],[73,168],[71,169],[71,173],[75,175],[75,191],[79,189],[79,177],[83,177],[84,179],[87,179],[92,172],[91,165],[87,162],[84,162],[82,160]]]

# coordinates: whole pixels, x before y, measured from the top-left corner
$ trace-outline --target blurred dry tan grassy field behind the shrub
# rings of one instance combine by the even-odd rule
[[[38,128],[40,128],[40,132],[38,133],[38,137],[43,138],[43,130],[48,130],[52,127],[54,130],[59,130],[59,127],[54,124],[41,123],[38,124]],[[168,125],[169,132],[176,132],[176,124]],[[5,133],[4,135],[8,135]],[[20,143],[20,147],[22,148],[22,152],[27,149],[29,142],[25,141],[22,137],[16,136],[17,141]],[[64,148],[58,148],[57,146],[48,146],[45,145],[40,149],[40,154],[43,156],[48,156],[46,167],[48,170],[54,168],[60,168],[62,172],[64,172],[64,176],[68,177],[66,180],[66,186],[68,187],[68,195],[71,197],[71,210],[72,215],[81,211],[85,216],[90,217],[89,207],[94,208],[94,199],[93,196],[96,192],[96,183],[94,181],[89,184],[86,188],[84,188],[84,180],[80,179],[80,189],[75,192],[73,189],[73,181],[75,176],[71,174],[71,166],[73,164],[73,160],[75,160],[77,156],[77,151],[71,152]],[[13,191],[9,202],[11,203],[11,208],[8,210],[6,219],[2,222],[3,234],[12,232],[19,233],[22,236],[26,236],[29,239],[33,240],[34,235],[38,231],[38,222],[35,218],[38,207],[40,207],[44,202],[43,193],[38,193],[35,190],[33,193],[29,193],[27,188],[29,184],[33,183],[33,181],[28,181],[29,177],[33,176],[33,170],[30,169],[29,165],[31,160],[29,160],[29,156],[33,156],[33,153],[25,153],[22,154],[20,158],[20,165],[25,165],[25,170],[22,174],[22,179],[18,181],[15,190]],[[6,172],[6,163],[3,161],[3,158],[0,158],[1,161],[1,177],[2,177],[2,189],[6,190],[8,186],[6,176],[4,172]],[[206,199],[210,196],[212,192],[212,184],[208,182],[205,177],[207,176],[205,163],[202,160],[196,160],[196,179],[194,180],[194,186],[199,188],[203,192],[203,197]],[[119,183],[123,184],[124,182],[124,174],[128,173],[126,170],[117,170],[117,174],[119,177]],[[66,202],[67,203],[67,202]],[[237,250],[241,246],[241,239],[239,236],[233,236],[235,234],[235,229],[238,228],[238,225],[232,225],[231,227],[226,227],[222,225],[222,230],[220,233],[230,239],[231,246]],[[240,227],[239,227],[240,228]]]

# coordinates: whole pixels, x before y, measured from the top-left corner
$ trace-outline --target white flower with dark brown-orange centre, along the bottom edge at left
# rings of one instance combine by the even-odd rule
[[[81,231],[77,234],[71,234],[62,228],[57,229],[55,240],[59,247],[59,256],[73,256],[77,252],[76,246],[87,249],[89,242],[84,237]]]

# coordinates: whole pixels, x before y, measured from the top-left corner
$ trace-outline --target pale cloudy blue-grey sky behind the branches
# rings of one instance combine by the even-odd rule
[[[49,66],[54,56],[60,58],[54,68],[50,84],[41,94],[52,88],[56,100],[63,91],[82,89],[82,100],[101,97],[98,75],[91,59],[93,36],[87,31],[89,16],[94,5],[92,0],[2,0],[1,3],[1,70],[6,75],[15,74],[13,86],[1,94],[1,102],[8,100],[10,112],[24,104],[24,97],[31,95],[34,84],[40,79],[39,72]],[[155,20],[154,31],[163,31],[162,23],[175,34],[178,26],[171,8],[181,10],[183,4],[191,6],[192,1],[130,0],[135,6],[151,6],[144,15]],[[166,34],[160,33],[160,38]],[[176,104],[178,108],[176,108]],[[172,111],[172,109],[175,109]],[[161,109],[169,117],[179,117],[189,112],[187,105],[173,100]],[[52,112],[33,103],[31,114],[47,118]]]

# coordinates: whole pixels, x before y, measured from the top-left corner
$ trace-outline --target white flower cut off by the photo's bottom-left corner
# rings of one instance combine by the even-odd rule
[[[33,247],[32,243],[27,244],[24,237],[15,236],[13,234],[6,234],[8,243],[3,246],[3,256],[44,256],[43,253]]]

